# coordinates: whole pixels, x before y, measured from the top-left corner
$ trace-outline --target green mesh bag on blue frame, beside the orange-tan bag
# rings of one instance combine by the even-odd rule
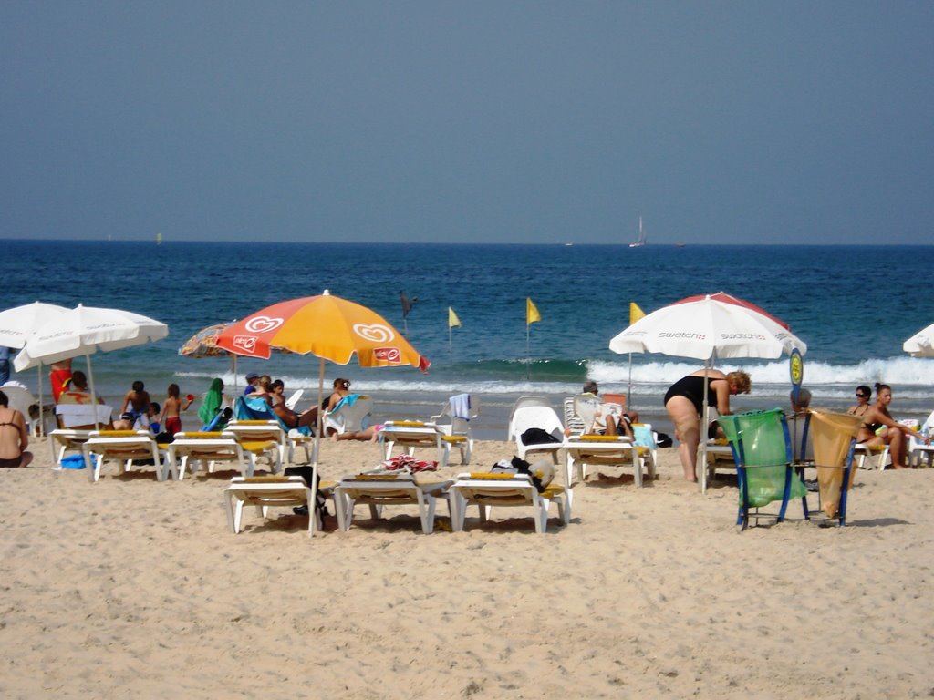
[[[745,529],[752,517],[785,520],[788,501],[800,498],[808,517],[807,490],[795,472],[791,436],[781,409],[721,415],[720,426],[727,434],[736,462],[739,485],[739,512],[736,524]],[[772,501],[781,501],[777,513],[759,512]]]

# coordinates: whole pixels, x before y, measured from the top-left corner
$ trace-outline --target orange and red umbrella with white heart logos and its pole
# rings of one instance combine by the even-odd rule
[[[320,359],[318,406],[324,398],[324,363],[346,365],[356,355],[361,367],[417,367],[431,364],[383,316],[327,289],[316,297],[280,301],[248,315],[218,336],[220,348],[237,355],[268,359],[273,350],[289,350]],[[315,429],[313,484],[318,483],[321,415]]]

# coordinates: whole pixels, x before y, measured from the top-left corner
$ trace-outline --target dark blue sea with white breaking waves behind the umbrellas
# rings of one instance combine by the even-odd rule
[[[902,343],[934,322],[929,304],[934,246],[825,245],[470,245],[151,241],[2,242],[7,265],[0,308],[31,301],[117,307],[168,325],[169,335],[91,357],[97,391],[119,403],[135,380],[161,401],[170,383],[204,393],[220,377],[233,393],[249,371],[270,374],[300,408],[318,393],[316,357],[269,360],[191,358],[178,348],[206,326],[233,321],[276,301],[328,289],[364,304],[403,332],[432,365],[362,369],[327,363],[334,377],[375,399],[377,422],[425,419],[448,397],[480,402],[474,432],[504,440],[522,396],[544,396],[561,413],[587,379],[624,393],[663,432],[668,386],[701,368],[689,358],[617,355],[610,339],[630,322],[630,302],[650,313],[688,296],[726,291],[785,321],[808,345],[804,386],[812,405],[842,410],[856,385],[891,385],[896,418],[934,409],[934,359],[909,357]],[[403,314],[404,295],[410,302]],[[527,300],[541,320],[526,324]],[[460,326],[448,324],[452,309]],[[77,358],[75,369],[84,367]],[[734,410],[787,408],[787,357],[717,361],[743,369],[753,392]],[[34,391],[37,371],[14,374]],[[47,387],[48,384],[44,384]],[[119,409],[119,406],[115,408]],[[189,425],[193,415],[183,416]],[[189,426],[191,427],[191,426]]]

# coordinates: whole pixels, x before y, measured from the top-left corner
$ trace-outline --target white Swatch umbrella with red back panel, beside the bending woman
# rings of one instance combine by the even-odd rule
[[[717,357],[775,359],[808,346],[785,323],[725,292],[688,297],[645,315],[610,341],[616,353],[661,353],[704,360],[704,432],[708,422],[707,371]],[[701,491],[707,489],[707,441],[701,434]]]

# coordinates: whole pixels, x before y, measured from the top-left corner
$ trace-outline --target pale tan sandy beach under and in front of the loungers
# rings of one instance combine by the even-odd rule
[[[907,698],[934,693],[931,472],[861,470],[845,528],[738,533],[736,490],[603,469],[571,525],[527,511],[451,533],[414,509],[309,539],[246,514],[230,472],[0,470],[0,694],[67,697]],[[472,467],[514,454],[484,441]],[[328,441],[325,479],[378,446]],[[446,470],[456,474],[457,465]]]

